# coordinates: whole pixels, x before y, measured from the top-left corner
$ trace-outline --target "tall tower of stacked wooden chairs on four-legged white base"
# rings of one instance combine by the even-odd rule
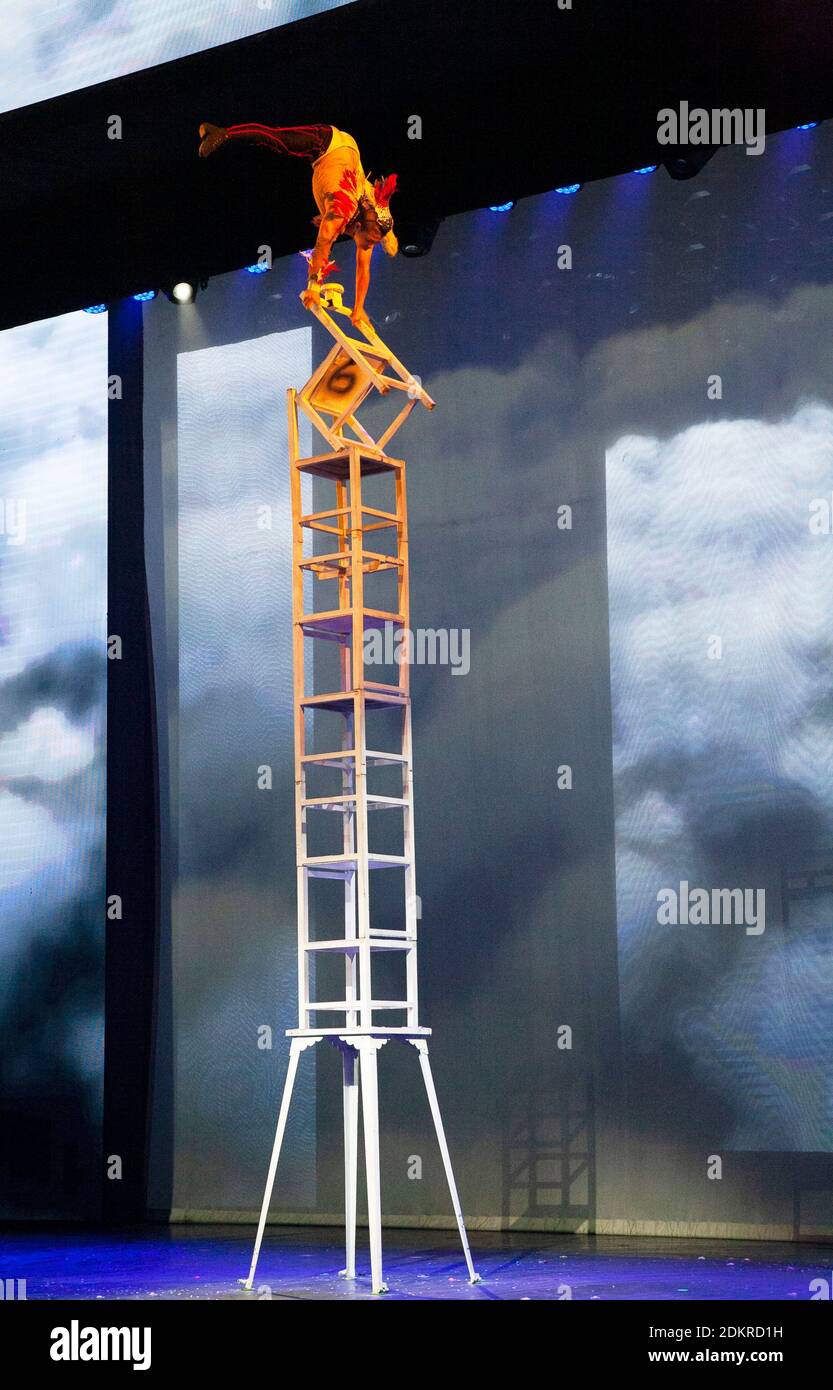
[[[419,1058],[428,1106],[445,1169],[451,1201],[463,1245],[469,1279],[478,1282],[452,1170],[439,1104],[428,1061],[431,1030],[420,1024],[417,990],[417,897],[414,885],[412,724],[407,646],[409,563],[405,461],[388,453],[388,445],[417,404],[434,409],[420,379],[412,375],[391,349],[369,329],[364,341],[349,329],[349,309],[341,285],[323,286],[321,303],[312,309],[334,339],[332,348],[300,391],[289,389],[289,467],[292,502],[292,669],[295,701],[295,834],[298,863],[298,1027],[289,1029],[289,1065],[281,1098],[263,1205],[245,1287],[252,1289],[275,1182],[292,1088],[302,1052],[327,1040],[341,1052],[343,1084],[346,1279],[356,1277],[356,1194],[359,1159],[359,1088],[367,1179],[367,1219],[373,1293],[387,1290],[382,1276],[380,1118],[377,1059],[388,1042],[401,1042]],[[374,438],[360,423],[359,410],[369,396],[402,396],[401,409],[384,432]],[[396,403],[398,404],[398,403]],[[299,455],[299,423],[312,421],[325,449],[313,457]],[[323,480],[331,491],[320,510],[305,510],[302,480]],[[367,481],[388,499],[378,506],[363,496]],[[320,488],[318,488],[320,491]],[[385,575],[387,606],[378,606],[371,587]],[[318,602],[324,585],[332,598]],[[381,644],[398,667],[389,681],[367,676],[369,644]],[[323,662],[309,662],[310,644],[335,644],[337,662],[323,691],[307,689],[310,671]],[[389,663],[389,662],[388,662]],[[371,667],[373,669],[373,667]],[[314,684],[314,681],[313,681]],[[325,716],[337,734],[316,734],[317,716]],[[384,723],[385,739],[374,721]],[[391,735],[395,728],[395,735]],[[384,742],[385,746],[378,746]],[[337,746],[327,746],[327,744]],[[388,746],[392,744],[394,746]],[[377,769],[387,769],[378,773]],[[374,778],[387,777],[385,791]],[[324,778],[327,787],[320,781]],[[391,795],[391,780],[395,795]],[[401,817],[398,853],[371,847],[378,817]],[[317,852],[309,840],[318,823],[335,817],[332,849]],[[338,820],[341,817],[341,827]],[[314,849],[316,852],[310,852]],[[371,912],[373,884],[381,872],[402,880],[398,920],[385,915],[378,924]],[[338,927],[318,930],[325,913],[310,912],[310,884],[335,880],[343,887]],[[314,926],[313,926],[314,924]],[[317,998],[313,962],[335,958],[339,998]],[[398,974],[401,986],[378,998],[377,973]]]

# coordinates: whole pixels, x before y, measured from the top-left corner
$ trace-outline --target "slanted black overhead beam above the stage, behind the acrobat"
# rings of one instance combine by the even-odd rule
[[[1,115],[0,328],[310,245],[309,167],[197,160],[200,120],[345,126],[399,172],[407,235],[656,163],[680,100],[765,107],[769,131],[820,120],[832,74],[833,0],[355,0]]]

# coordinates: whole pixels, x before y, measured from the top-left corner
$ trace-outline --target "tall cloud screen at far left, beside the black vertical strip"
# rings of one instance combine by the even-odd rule
[[[97,1200],[107,318],[0,334],[0,1204]]]

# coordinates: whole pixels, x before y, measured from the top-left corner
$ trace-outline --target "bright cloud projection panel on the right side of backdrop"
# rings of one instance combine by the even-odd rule
[[[680,1048],[741,1148],[833,1144],[833,410],[722,420],[608,452],[616,880],[626,1036]],[[762,931],[658,922],[658,892],[755,887]]]

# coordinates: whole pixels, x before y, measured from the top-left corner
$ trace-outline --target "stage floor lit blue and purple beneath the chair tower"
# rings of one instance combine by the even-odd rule
[[[359,1277],[339,1279],[342,1233],[270,1227],[256,1290],[249,1270],[254,1230],[241,1226],[146,1227],[111,1233],[6,1229],[0,1277],[26,1280],[26,1298],[373,1298],[359,1232]],[[812,1279],[830,1279],[833,1247],[763,1241],[474,1232],[483,1283],[466,1280],[449,1232],[387,1230],[384,1300],[768,1300],[807,1301]],[[566,1293],[566,1290],[570,1290]]]

